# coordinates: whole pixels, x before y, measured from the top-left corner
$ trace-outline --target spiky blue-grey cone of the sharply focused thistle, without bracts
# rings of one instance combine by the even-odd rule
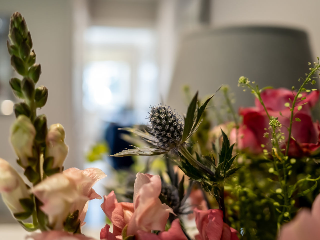
[[[183,123],[168,106],[154,106],[149,112],[150,132],[159,147],[171,149],[180,143]]]

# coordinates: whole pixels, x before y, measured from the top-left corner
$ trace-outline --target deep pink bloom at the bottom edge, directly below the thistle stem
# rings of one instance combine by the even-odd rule
[[[196,240],[239,240],[237,231],[223,222],[223,214],[219,209],[202,211],[195,209],[196,226],[199,234]]]

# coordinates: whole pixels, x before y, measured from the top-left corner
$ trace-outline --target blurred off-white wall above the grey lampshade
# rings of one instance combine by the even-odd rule
[[[212,0],[211,25],[276,25],[305,29],[314,56],[320,57],[318,0]]]

